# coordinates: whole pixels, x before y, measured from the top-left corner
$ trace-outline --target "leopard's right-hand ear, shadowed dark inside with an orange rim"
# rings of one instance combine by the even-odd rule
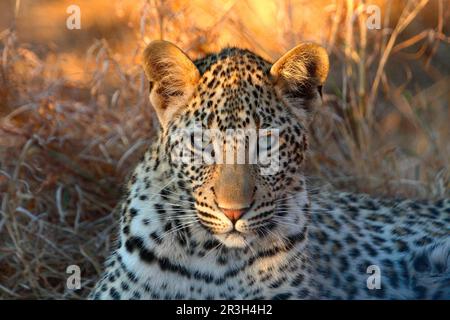
[[[310,111],[322,102],[329,69],[325,48],[302,43],[285,53],[270,69],[277,94],[295,112]]]

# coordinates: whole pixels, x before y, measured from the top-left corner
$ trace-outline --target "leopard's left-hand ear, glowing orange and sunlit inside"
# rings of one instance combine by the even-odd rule
[[[200,73],[180,48],[162,40],[147,46],[143,67],[150,82],[150,102],[165,127],[192,96]]]

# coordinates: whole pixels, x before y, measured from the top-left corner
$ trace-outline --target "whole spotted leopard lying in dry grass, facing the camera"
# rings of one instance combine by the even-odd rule
[[[450,298],[450,199],[307,186],[323,46],[300,43],[271,63],[237,47],[191,60],[156,40],[142,60],[160,129],[123,186],[115,249],[88,298]],[[225,142],[211,151],[213,135],[196,129]],[[247,129],[256,142],[238,134]],[[239,162],[232,141],[271,160]],[[232,161],[214,156],[223,150]]]

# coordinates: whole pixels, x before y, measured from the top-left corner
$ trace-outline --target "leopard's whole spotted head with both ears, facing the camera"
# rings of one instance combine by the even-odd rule
[[[306,224],[307,210],[288,212],[307,205],[301,165],[328,72],[323,48],[303,44],[275,64],[237,48],[192,62],[157,41],[144,67],[178,192],[210,236],[245,247]]]

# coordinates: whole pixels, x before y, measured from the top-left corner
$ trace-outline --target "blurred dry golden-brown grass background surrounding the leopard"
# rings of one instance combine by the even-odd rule
[[[140,67],[155,39],[192,59],[322,44],[311,188],[449,197],[449,17],[446,0],[0,1],[0,298],[83,298],[97,280],[120,185],[157,132]]]

